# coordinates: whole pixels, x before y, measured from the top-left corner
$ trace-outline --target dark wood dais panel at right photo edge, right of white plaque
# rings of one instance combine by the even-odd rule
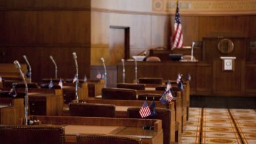
[[[246,63],[245,65],[245,92],[246,95],[255,96],[256,92],[256,64],[255,63]]]

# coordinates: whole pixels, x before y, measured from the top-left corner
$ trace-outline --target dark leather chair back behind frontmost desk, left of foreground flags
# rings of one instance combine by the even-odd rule
[[[70,116],[116,117],[116,106],[96,103],[70,103]]]

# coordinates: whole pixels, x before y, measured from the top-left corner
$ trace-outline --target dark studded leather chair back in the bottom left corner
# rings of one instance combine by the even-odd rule
[[[61,126],[0,126],[1,143],[65,143]]]

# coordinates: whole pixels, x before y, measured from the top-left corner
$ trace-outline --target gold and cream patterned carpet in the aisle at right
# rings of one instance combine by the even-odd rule
[[[256,143],[256,111],[190,108],[181,143]]]

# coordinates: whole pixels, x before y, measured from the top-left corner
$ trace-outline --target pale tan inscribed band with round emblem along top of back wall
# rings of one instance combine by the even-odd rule
[[[180,0],[181,15],[256,14],[255,0]],[[152,0],[153,12],[175,13],[176,1]]]

